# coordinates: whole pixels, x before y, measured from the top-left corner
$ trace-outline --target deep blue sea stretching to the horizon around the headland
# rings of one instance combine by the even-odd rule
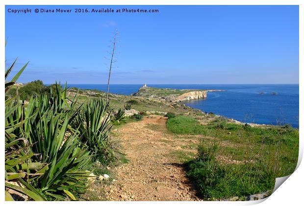
[[[80,89],[106,91],[105,84],[68,84]],[[111,84],[110,93],[130,95],[142,84]],[[172,89],[219,89],[207,98],[183,104],[241,122],[299,128],[299,84],[148,84]],[[259,94],[263,93],[263,94]],[[275,95],[274,95],[275,94]]]

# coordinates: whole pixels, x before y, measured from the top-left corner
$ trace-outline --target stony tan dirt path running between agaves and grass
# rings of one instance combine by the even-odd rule
[[[117,168],[117,181],[108,190],[107,200],[199,200],[187,182],[182,161],[172,155],[181,150],[182,143],[164,132],[165,123],[164,117],[151,115],[117,130],[129,163]]]

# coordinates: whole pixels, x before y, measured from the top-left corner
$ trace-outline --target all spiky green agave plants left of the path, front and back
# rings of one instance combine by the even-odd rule
[[[26,65],[5,83],[5,92]],[[31,97],[26,105],[18,89],[15,97],[5,101],[6,190],[37,201],[76,200],[73,190],[87,181],[92,156],[105,154],[112,127],[109,103],[94,100],[76,107],[76,96],[69,100],[66,91],[66,85],[62,88],[56,82],[50,95]],[[13,200],[7,191],[5,199]]]

